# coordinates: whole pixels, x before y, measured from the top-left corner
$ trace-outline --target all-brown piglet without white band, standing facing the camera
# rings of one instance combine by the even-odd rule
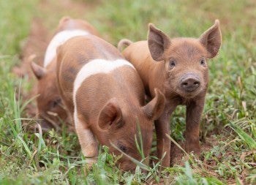
[[[187,107],[186,143],[187,151],[200,153],[199,129],[206,91],[208,88],[208,66],[206,58],[217,55],[222,36],[219,20],[205,31],[199,39],[170,39],[161,30],[149,24],[148,41],[118,43],[118,49],[129,45],[123,55],[140,74],[148,96],[154,97],[154,88],[165,94],[165,110],[155,121],[157,151],[159,158],[166,151],[162,165],[170,165],[170,116],[177,105]]]

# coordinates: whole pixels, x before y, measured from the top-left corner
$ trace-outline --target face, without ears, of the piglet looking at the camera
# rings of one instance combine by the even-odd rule
[[[197,39],[173,39],[165,58],[165,86],[193,98],[208,86],[207,51]]]

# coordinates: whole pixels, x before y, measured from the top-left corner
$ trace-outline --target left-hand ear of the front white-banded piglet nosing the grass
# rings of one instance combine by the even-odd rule
[[[123,126],[123,115],[116,99],[110,99],[99,113],[99,128],[110,129]]]

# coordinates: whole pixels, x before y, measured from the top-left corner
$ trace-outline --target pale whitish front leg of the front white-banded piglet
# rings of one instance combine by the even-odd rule
[[[91,129],[86,127],[84,121],[78,118],[78,115],[74,115],[75,129],[78,134],[79,143],[83,152],[83,156],[86,157],[86,165],[91,168],[95,162],[97,162],[98,156],[98,143],[91,132]]]

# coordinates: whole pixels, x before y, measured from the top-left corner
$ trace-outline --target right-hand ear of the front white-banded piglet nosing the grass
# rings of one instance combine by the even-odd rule
[[[155,120],[161,116],[165,108],[165,96],[158,88],[154,89],[155,97],[143,107],[144,113],[149,119]]]

